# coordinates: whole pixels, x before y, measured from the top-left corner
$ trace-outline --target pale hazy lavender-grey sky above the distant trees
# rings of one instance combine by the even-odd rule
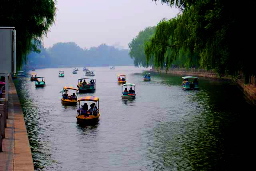
[[[128,49],[128,43],[147,26],[173,18],[178,9],[152,0],[58,0],[55,25],[44,47],[76,42],[81,48],[107,45]]]

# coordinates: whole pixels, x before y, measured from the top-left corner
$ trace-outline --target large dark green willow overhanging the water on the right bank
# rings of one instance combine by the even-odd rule
[[[157,1],[157,0],[153,0]],[[253,56],[256,38],[254,9],[256,2],[236,3],[223,0],[161,0],[180,8],[180,14],[162,20],[156,34],[146,43],[147,60],[162,67],[175,60],[180,49],[200,60],[201,67],[215,69],[219,74],[237,75],[240,70],[256,75]],[[166,56],[170,49],[173,53]],[[247,77],[248,78],[248,77]]]

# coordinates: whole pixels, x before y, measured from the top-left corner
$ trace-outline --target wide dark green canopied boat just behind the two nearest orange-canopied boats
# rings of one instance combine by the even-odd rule
[[[83,84],[83,81],[85,81],[86,84]],[[80,78],[78,79],[77,87],[79,93],[94,92],[96,90],[96,79]]]

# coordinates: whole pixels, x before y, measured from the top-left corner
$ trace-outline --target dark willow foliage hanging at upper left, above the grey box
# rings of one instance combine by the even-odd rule
[[[56,0],[1,0],[0,26],[16,29],[18,68],[31,50],[38,52],[38,44],[54,23],[55,4]]]

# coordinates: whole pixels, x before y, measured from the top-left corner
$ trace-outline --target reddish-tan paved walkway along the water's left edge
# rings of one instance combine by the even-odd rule
[[[0,171],[34,171],[22,108],[11,77],[8,100],[6,138],[2,141]]]

